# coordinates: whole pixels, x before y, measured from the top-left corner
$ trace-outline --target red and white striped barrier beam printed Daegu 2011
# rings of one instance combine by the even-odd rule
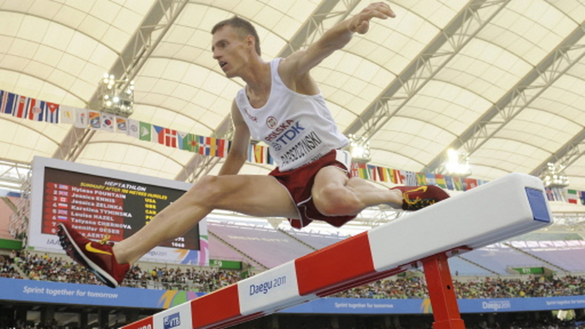
[[[551,222],[542,181],[510,174],[122,328],[225,328]]]

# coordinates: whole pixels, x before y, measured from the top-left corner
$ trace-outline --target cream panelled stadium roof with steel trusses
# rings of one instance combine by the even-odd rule
[[[229,138],[240,79],[212,58],[211,27],[253,22],[264,60],[287,56],[369,2],[339,0],[0,1],[0,89],[93,108],[104,72],[133,79],[131,119]],[[438,172],[446,150],[472,177],[565,168],[585,190],[583,0],[391,2],[312,74],[340,130],[369,139],[370,164]],[[95,108],[93,108],[95,109]],[[194,181],[221,160],[71,124],[0,115],[0,160],[35,155]],[[218,161],[219,160],[219,161]],[[271,165],[248,163],[244,174]]]

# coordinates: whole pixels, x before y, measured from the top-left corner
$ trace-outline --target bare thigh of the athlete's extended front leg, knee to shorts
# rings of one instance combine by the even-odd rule
[[[217,179],[225,191],[225,198],[215,200],[217,209],[262,217],[298,217],[288,191],[273,176],[226,175]]]

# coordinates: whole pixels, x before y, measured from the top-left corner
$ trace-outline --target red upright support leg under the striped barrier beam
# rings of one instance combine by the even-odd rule
[[[457,306],[447,256],[444,253],[432,255],[422,260],[422,266],[435,317],[433,329],[465,329]]]

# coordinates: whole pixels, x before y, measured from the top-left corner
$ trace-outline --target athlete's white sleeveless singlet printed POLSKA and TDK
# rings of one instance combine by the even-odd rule
[[[289,171],[345,147],[349,141],[339,132],[321,93],[303,95],[284,85],[278,75],[280,60],[270,61],[272,81],[266,104],[253,108],[244,87],[236,95],[236,105],[252,138],[268,144],[278,169]]]

